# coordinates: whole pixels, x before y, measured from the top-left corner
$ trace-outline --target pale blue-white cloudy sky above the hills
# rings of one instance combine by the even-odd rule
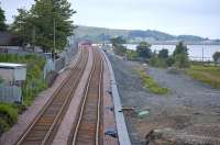
[[[0,0],[8,23],[34,0]],[[220,38],[220,0],[69,0],[75,24]]]

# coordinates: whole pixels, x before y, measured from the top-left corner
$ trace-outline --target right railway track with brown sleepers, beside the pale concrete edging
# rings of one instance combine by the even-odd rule
[[[101,54],[98,49],[94,49],[92,70],[86,85],[78,120],[69,136],[69,145],[102,144],[102,71],[103,60]]]

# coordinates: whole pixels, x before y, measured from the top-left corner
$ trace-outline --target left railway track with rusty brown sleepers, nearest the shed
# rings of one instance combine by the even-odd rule
[[[88,54],[88,49],[82,49],[68,77],[53,93],[53,97],[43,107],[28,130],[20,136],[15,143],[16,145],[47,145],[53,142],[82,76]]]

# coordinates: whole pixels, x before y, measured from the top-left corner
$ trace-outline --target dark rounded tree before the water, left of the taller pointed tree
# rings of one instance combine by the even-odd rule
[[[141,42],[138,46],[136,46],[136,52],[139,54],[140,57],[143,58],[150,58],[152,55],[152,51],[150,49],[151,44],[146,43],[146,42]]]

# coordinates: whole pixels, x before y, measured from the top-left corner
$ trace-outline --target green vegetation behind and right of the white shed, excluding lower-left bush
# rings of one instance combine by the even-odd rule
[[[34,97],[46,88],[43,79],[45,59],[40,55],[0,54],[1,63],[26,64],[26,81],[22,86],[23,104],[30,105]]]

